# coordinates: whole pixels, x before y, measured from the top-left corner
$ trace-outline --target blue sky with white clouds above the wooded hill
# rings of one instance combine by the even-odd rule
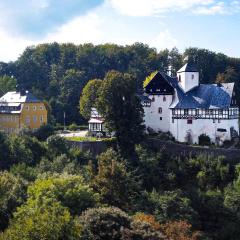
[[[40,43],[143,42],[240,57],[240,0],[0,0],[0,61]]]

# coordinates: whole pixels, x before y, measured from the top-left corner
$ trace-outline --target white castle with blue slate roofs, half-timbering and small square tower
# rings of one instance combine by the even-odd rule
[[[170,132],[179,142],[198,143],[206,134],[221,144],[239,134],[234,83],[199,84],[199,72],[185,64],[176,77],[156,72],[144,83],[146,128]]]

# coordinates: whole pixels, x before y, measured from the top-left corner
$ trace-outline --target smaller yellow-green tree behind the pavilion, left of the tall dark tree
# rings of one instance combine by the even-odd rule
[[[82,91],[80,97],[80,113],[86,119],[90,118],[91,108],[96,107],[99,89],[102,85],[102,80],[90,80]]]

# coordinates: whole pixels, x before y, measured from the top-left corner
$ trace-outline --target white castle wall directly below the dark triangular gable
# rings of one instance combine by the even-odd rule
[[[149,95],[149,98],[155,98],[151,102],[151,107],[144,107],[144,121],[146,128],[150,127],[154,131],[168,132],[170,131],[170,109],[172,103],[172,95],[165,95],[166,101],[163,101],[163,95]],[[158,112],[158,108],[162,108],[162,113]],[[160,120],[162,117],[162,120]]]

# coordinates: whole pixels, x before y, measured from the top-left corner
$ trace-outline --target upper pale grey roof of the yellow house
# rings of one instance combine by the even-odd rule
[[[41,102],[38,98],[33,96],[30,92],[26,91],[25,95],[20,92],[7,92],[0,98],[0,103],[36,103]]]

